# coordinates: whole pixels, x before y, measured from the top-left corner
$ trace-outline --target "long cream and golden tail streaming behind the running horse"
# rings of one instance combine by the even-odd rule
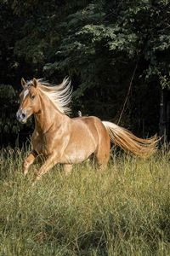
[[[141,157],[150,156],[156,151],[156,145],[159,139],[156,137],[150,137],[147,139],[139,138],[133,135],[131,131],[115,125],[111,122],[102,122],[108,131],[111,142],[121,147],[125,151],[130,151],[133,154],[138,154]]]

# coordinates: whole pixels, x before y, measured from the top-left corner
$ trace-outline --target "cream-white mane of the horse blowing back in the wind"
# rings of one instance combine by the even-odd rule
[[[49,84],[43,79],[37,79],[37,82],[37,88],[48,96],[61,113],[71,113],[71,108],[68,107],[72,94],[71,80],[69,78],[63,79],[63,82],[57,85]]]

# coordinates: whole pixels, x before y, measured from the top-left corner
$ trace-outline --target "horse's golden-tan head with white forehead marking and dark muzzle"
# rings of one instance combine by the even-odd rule
[[[39,111],[40,104],[37,79],[33,79],[29,82],[26,82],[25,79],[21,79],[21,84],[23,90],[20,93],[20,107],[16,113],[16,118],[20,123],[25,124],[32,113],[37,113]]]

